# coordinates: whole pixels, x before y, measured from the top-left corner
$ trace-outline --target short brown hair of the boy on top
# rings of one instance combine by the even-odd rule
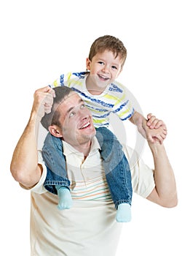
[[[127,49],[124,47],[124,44],[121,40],[109,35],[105,35],[103,37],[98,37],[98,39],[95,39],[90,47],[90,61],[92,61],[92,58],[97,53],[103,53],[104,50],[111,50],[111,52],[114,53],[115,58],[117,56],[120,56],[120,58],[122,59],[123,67],[124,61],[127,58]]]

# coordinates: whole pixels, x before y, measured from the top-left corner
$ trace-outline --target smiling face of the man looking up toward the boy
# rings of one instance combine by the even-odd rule
[[[90,110],[78,94],[71,94],[58,106],[60,111],[60,124],[63,127],[63,140],[71,146],[87,146],[95,135]]]

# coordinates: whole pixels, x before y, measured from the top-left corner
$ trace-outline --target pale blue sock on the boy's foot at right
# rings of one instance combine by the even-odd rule
[[[129,203],[120,203],[116,211],[117,222],[130,222],[131,206]]]

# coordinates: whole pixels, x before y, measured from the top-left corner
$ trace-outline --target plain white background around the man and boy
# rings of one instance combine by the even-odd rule
[[[20,189],[9,165],[33,92],[60,73],[84,70],[91,43],[111,34],[128,52],[118,80],[135,95],[144,116],[152,112],[167,124],[165,146],[179,199],[176,208],[167,209],[135,195],[117,255],[181,256],[181,1],[7,0],[0,4],[0,24],[1,252],[30,255],[30,193]],[[132,129],[125,131],[129,144]],[[147,146],[143,159],[153,167]]]

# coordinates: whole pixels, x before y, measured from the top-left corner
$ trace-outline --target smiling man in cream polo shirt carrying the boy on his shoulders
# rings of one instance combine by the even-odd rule
[[[11,163],[12,176],[23,188],[31,190],[31,255],[113,256],[121,224],[115,221],[92,116],[71,89],[56,106],[52,106],[53,97],[55,91],[49,87],[35,92],[31,117]],[[56,107],[56,114],[51,115],[51,107],[51,113]],[[38,157],[36,141],[45,112],[56,120],[50,124],[50,132],[63,138],[74,199],[68,210],[59,211],[58,196],[43,187],[47,168]],[[133,191],[160,206],[174,207],[177,204],[175,178],[165,148],[157,141],[149,146],[155,170],[138,161],[131,170]],[[130,154],[133,152],[126,152],[129,159]]]

